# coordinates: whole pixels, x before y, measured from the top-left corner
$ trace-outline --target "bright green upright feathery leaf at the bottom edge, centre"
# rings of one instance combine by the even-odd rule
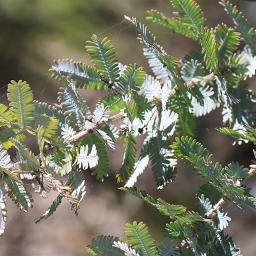
[[[141,255],[154,256],[157,253],[154,239],[150,236],[147,226],[143,223],[133,221],[132,224],[126,224],[124,228],[128,243]]]

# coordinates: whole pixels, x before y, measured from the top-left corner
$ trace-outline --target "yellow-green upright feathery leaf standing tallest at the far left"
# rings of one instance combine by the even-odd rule
[[[10,101],[10,111],[15,118],[15,122],[21,129],[31,129],[30,125],[33,122],[33,93],[26,82],[11,81],[8,84],[8,100]]]

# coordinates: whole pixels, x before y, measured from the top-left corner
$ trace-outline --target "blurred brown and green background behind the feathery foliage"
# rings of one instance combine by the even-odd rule
[[[236,4],[256,28],[256,2],[230,2]],[[234,26],[218,1],[197,3],[210,27],[221,22]],[[93,33],[112,41],[118,61],[126,65],[137,63],[150,74],[142,47],[136,40],[136,31],[129,22],[124,21],[124,15],[134,16],[147,24],[156,35],[157,42],[172,56],[182,58],[196,49],[197,45],[191,40],[146,20],[147,10],[151,9],[172,17],[173,8],[169,1],[0,1],[0,102],[7,104],[6,85],[12,79],[27,81],[33,89],[34,99],[57,102],[58,89],[62,85],[51,79],[48,71],[53,60],[68,58],[90,65],[84,45]],[[253,92],[256,92],[255,82],[254,78],[248,81]],[[92,90],[81,93],[93,111],[99,93]],[[196,140],[209,149],[214,156],[213,161],[219,161],[224,166],[230,161],[238,161],[248,168],[254,158],[252,145],[231,147],[225,136],[206,131],[207,128],[222,125],[221,120],[221,109],[198,118]],[[140,147],[140,138],[137,141]],[[29,141],[26,141],[26,145],[31,150],[37,150],[29,145]],[[35,202],[33,209],[26,214],[7,200],[8,220],[4,235],[0,237],[0,255],[89,255],[84,246],[90,244],[93,237],[101,234],[124,236],[125,223],[134,220],[144,221],[157,239],[156,243],[161,243],[168,218],[138,198],[117,189],[115,175],[122,164],[122,153],[122,144],[119,143],[116,153],[109,154],[111,175],[105,182],[98,182],[90,172],[84,172],[86,195],[78,216],[70,211],[70,205],[63,200],[51,218],[35,224],[33,220],[41,216],[56,198],[54,192],[49,194],[49,198],[43,199],[30,188]],[[177,179],[166,188],[157,190],[149,168],[141,175],[136,186],[156,198],[161,197],[171,204],[184,204],[189,211],[197,211],[195,193],[204,182],[195,172],[179,163]],[[248,181],[248,186],[254,187],[252,193],[256,195],[255,177]],[[28,187],[31,187],[29,183]],[[256,221],[256,212],[251,209],[242,212],[228,204],[225,207],[230,210],[229,216],[232,218],[227,233],[234,237],[245,256],[255,255],[256,229],[252,223]]]

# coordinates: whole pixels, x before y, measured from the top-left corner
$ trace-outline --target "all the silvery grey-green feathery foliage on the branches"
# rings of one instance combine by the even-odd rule
[[[51,189],[59,193],[36,222],[51,216],[63,198],[77,214],[86,192],[82,170],[92,171],[101,181],[108,177],[106,150],[115,152],[120,138],[125,152],[116,180],[125,182],[122,190],[170,217],[165,229],[169,239],[157,246],[147,226],[134,221],[125,227],[126,241],[122,237],[99,236],[88,246],[90,253],[241,255],[232,237],[224,232],[230,218],[223,204],[230,201],[239,208],[246,204],[256,209],[250,189],[243,186],[256,166],[249,170],[239,163],[226,167],[212,163],[212,156],[193,136],[195,118],[222,106],[223,124],[227,127],[217,127],[216,131],[234,137],[235,143],[252,141],[256,145],[256,131],[252,128],[255,99],[244,84],[244,79],[255,74],[255,33],[241,13],[225,1],[221,4],[238,31],[225,24],[208,28],[200,7],[193,1],[172,3],[177,10],[173,19],[156,10],[148,12],[148,19],[198,42],[199,50],[182,60],[168,55],[144,24],[125,16],[136,29],[154,76],[136,64],[118,63],[108,38],[93,35],[86,42],[92,67],[72,60],[54,61],[52,77],[64,84],[58,105],[33,100],[26,82],[9,84],[10,108],[0,104],[0,234],[6,222],[6,195],[24,211],[32,207],[24,179],[34,180],[33,188],[43,197]],[[243,28],[248,33],[244,34]],[[246,45],[239,51],[241,42]],[[105,90],[106,96],[92,111],[77,88]],[[119,129],[114,125],[117,120],[123,121]],[[140,134],[145,134],[145,140],[136,161],[136,137]],[[24,145],[28,135],[38,143],[37,156]],[[13,160],[8,154],[10,147],[17,148]],[[155,199],[134,187],[148,164],[157,188],[172,182],[177,173],[177,157],[207,180],[197,191],[198,212]],[[67,175],[65,184],[58,179],[63,175]],[[178,239],[179,246],[172,239]]]

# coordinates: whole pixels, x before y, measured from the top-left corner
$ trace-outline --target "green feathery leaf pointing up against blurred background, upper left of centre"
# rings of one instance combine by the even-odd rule
[[[116,61],[115,48],[111,45],[111,41],[104,38],[100,42],[97,35],[93,35],[92,41],[86,43],[85,48],[97,70],[100,70],[100,73],[111,81],[110,83],[116,83],[120,70]]]

